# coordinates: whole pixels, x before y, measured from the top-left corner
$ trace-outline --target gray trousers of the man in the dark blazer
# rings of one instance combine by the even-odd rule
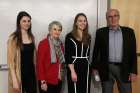
[[[109,64],[109,80],[102,82],[103,93],[113,93],[113,86],[117,82],[119,93],[132,93],[131,82],[123,82],[120,76],[120,66]]]

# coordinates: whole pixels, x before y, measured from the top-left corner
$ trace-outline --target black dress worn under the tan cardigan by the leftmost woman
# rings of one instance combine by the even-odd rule
[[[34,44],[23,44],[21,49],[21,80],[23,93],[37,93],[34,67]]]

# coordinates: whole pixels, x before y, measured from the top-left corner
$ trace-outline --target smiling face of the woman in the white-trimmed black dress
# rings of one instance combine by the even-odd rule
[[[77,29],[84,30],[87,26],[87,20],[84,16],[79,16],[76,22]]]

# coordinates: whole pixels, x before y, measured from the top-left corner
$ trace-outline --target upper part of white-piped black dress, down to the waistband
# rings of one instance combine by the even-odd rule
[[[85,46],[82,44],[83,42],[76,40],[72,36],[72,33],[69,33],[66,36],[65,60],[67,64],[72,64],[73,62],[77,61],[75,60],[76,57],[79,57],[82,60],[84,59],[83,57],[85,57],[86,61],[89,60],[90,45]]]

